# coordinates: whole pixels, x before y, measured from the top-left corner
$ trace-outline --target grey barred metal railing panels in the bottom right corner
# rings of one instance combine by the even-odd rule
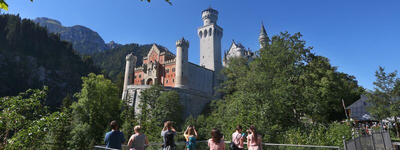
[[[391,139],[388,131],[375,132],[371,130],[368,135],[358,135],[358,137],[352,136],[349,141],[345,140],[343,136],[344,150],[381,150],[381,149],[392,149]]]

